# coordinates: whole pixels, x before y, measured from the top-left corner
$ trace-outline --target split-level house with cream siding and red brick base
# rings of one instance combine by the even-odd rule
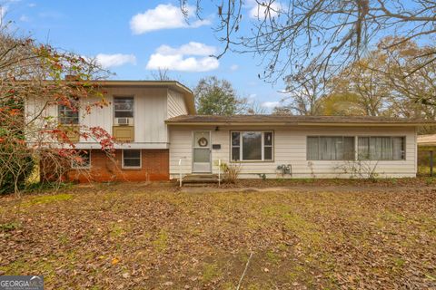
[[[92,179],[167,180],[180,174],[218,173],[218,164],[240,168],[240,178],[415,177],[417,127],[426,121],[382,117],[196,115],[193,92],[179,82],[105,81],[110,105],[91,114],[48,108],[101,126],[116,140],[108,160],[92,140],[76,140]],[[84,102],[92,102],[86,100]],[[38,100],[27,102],[34,110]],[[81,117],[82,116],[82,117]],[[71,120],[70,120],[71,121]],[[78,170],[70,179],[82,180]]]

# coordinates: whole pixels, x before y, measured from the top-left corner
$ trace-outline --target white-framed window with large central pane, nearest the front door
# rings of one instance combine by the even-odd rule
[[[269,161],[272,160],[272,131],[233,131],[233,161]]]

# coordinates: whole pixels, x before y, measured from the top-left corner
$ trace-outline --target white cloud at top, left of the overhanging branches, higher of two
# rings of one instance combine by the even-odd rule
[[[194,7],[187,6],[188,18],[193,19]],[[171,28],[195,28],[211,24],[209,20],[196,20],[188,24],[180,7],[168,4],[157,5],[144,13],[136,14],[130,20],[130,29],[134,34],[145,34],[155,30]]]

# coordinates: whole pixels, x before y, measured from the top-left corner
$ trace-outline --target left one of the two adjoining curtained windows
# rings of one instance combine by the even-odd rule
[[[307,160],[354,160],[354,137],[308,136]]]

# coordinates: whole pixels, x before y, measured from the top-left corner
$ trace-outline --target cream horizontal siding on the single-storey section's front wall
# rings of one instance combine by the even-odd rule
[[[416,174],[416,132],[414,127],[170,127],[170,175],[179,174],[179,159],[182,161],[183,174],[192,169],[192,131],[212,131],[212,144],[221,144],[221,150],[212,150],[213,173],[217,173],[217,160],[228,163],[230,160],[229,131],[274,131],[273,161],[254,161],[241,163],[241,178],[259,178],[266,174],[268,178],[282,177],[277,166],[292,165],[292,178],[348,178],[339,167],[345,161],[306,160],[306,138],[313,135],[334,136],[405,136],[406,159],[365,161],[376,166],[381,177],[414,177]],[[285,176],[290,178],[290,176]]]

